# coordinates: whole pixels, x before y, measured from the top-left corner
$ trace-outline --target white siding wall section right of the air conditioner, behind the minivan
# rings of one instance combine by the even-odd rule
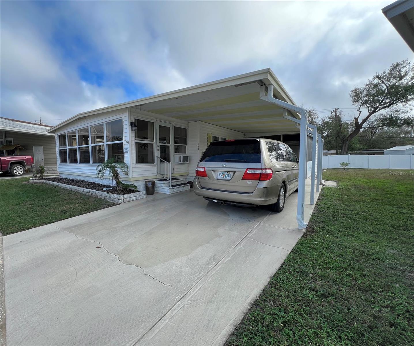
[[[189,127],[191,129],[191,132],[193,132],[193,134],[190,135],[190,138],[191,138],[191,145],[189,149],[190,172],[188,173],[188,179],[194,178],[195,168],[197,166],[197,163],[200,160],[202,153],[208,147],[209,143],[207,143],[207,134],[211,133],[214,136],[225,137],[226,139],[244,138],[243,132],[229,130],[229,129],[226,129],[225,127],[204,123],[203,121],[190,122]],[[198,143],[193,138],[194,132],[198,133]]]

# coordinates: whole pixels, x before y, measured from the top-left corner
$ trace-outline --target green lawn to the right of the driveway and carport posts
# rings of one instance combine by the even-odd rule
[[[338,188],[227,345],[414,345],[414,171],[389,172],[324,172]]]

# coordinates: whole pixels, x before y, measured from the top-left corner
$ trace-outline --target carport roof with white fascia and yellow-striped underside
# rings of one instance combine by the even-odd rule
[[[283,118],[284,110],[260,99],[260,85],[274,86],[277,99],[296,105],[270,68],[164,94],[79,113],[48,132],[77,118],[121,108],[135,108],[186,121],[201,120],[244,133],[297,133],[295,123]],[[298,114],[292,114],[300,118]]]

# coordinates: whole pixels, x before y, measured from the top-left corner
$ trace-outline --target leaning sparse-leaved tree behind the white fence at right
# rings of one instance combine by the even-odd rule
[[[363,87],[352,89],[349,96],[358,114],[354,117],[354,130],[344,139],[342,154],[347,153],[349,142],[362,129],[412,123],[407,114],[414,101],[414,66],[408,60],[395,62],[388,70],[375,74]],[[375,125],[370,126],[366,123],[373,115],[376,115]]]

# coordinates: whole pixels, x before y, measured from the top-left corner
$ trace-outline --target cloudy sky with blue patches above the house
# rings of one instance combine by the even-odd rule
[[[266,67],[299,105],[350,108],[354,86],[413,59],[390,2],[2,1],[1,116],[56,125]]]

